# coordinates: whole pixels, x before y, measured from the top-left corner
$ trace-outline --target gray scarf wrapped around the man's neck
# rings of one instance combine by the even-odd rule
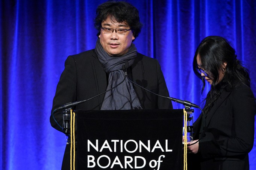
[[[137,56],[137,49],[132,43],[126,54],[120,57],[111,57],[104,51],[100,44],[100,39],[97,40],[95,51],[105,72],[109,74],[107,90],[124,79],[122,66],[128,61],[130,67],[133,64],[134,58]],[[106,92],[101,110],[129,109],[141,109],[141,104],[139,103],[132,83],[126,79],[116,88]]]

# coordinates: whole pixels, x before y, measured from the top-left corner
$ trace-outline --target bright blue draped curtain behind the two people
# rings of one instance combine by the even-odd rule
[[[206,92],[200,94],[192,58],[209,35],[226,37],[233,44],[250,70],[256,94],[256,1],[127,1],[139,9],[144,24],[134,43],[139,52],[158,59],[171,97],[203,105]],[[52,100],[67,56],[95,47],[93,19],[102,2],[0,1],[0,169],[61,168],[65,136],[50,125]],[[194,118],[199,114],[195,109]],[[256,169],[255,145],[251,169]]]

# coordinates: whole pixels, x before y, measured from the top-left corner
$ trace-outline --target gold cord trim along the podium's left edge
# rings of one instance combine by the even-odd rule
[[[75,170],[75,113],[72,109],[70,110],[70,138],[70,170]]]

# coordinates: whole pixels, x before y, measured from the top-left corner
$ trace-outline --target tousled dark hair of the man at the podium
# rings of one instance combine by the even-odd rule
[[[97,7],[96,15],[94,26],[98,30],[97,36],[100,35],[101,22],[108,17],[114,22],[127,22],[135,38],[141,32],[142,24],[139,21],[139,11],[130,3],[124,1],[102,3]]]

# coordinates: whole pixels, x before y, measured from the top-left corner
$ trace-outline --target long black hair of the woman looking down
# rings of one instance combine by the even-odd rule
[[[195,51],[193,60],[193,70],[203,82],[205,80],[200,73],[197,72],[197,55],[200,56],[201,68],[212,76],[211,90],[206,97],[204,113],[208,113],[214,102],[220,95],[221,89],[229,91],[239,84],[245,84],[250,87],[250,77],[248,70],[242,66],[241,62],[236,58],[235,49],[230,43],[220,36],[208,36],[204,38],[197,50]],[[226,63],[226,68],[223,70],[223,63]],[[224,72],[223,79],[218,82],[220,72]]]

